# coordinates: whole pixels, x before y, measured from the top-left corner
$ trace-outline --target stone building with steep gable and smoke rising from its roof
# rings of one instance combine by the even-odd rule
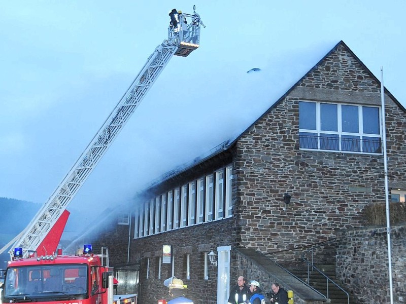
[[[335,265],[342,232],[362,229],[364,207],[385,203],[382,108],[379,80],[344,42],[320,59],[242,134],[167,174],[131,208],[130,229],[123,225],[114,244],[128,246],[117,265],[138,267],[140,302],[165,297],[171,276],[184,280],[196,304],[226,303],[239,275],[266,292],[279,282],[298,303],[333,297],[306,284],[302,257],[311,252],[316,266]],[[385,120],[389,187],[402,193],[405,109],[386,89]],[[350,268],[343,255],[340,264]],[[368,302],[354,281],[340,280],[345,270],[336,272],[351,302]],[[377,287],[374,278],[369,284]]]

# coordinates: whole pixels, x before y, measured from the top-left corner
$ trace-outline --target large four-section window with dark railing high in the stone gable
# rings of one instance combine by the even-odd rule
[[[299,102],[302,149],[381,154],[381,138],[379,107]]]

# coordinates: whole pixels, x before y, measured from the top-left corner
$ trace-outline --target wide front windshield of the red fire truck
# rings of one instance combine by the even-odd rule
[[[85,296],[88,289],[86,264],[27,265],[9,268],[4,282],[5,302],[62,299]]]

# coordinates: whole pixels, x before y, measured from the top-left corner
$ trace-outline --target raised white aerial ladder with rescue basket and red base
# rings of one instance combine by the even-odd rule
[[[33,254],[52,254],[56,251],[69,216],[66,207],[106,154],[113,140],[128,122],[166,64],[174,55],[186,57],[199,47],[200,25],[206,26],[196,13],[195,6],[193,6],[193,14],[185,14],[173,9],[169,16],[171,21],[167,39],[148,57],[137,78],[36,216],[24,231],[0,250],[0,254],[9,248],[16,247],[22,248],[23,257]],[[10,247],[13,242],[14,245]],[[12,250],[9,251],[10,255],[13,253]]]

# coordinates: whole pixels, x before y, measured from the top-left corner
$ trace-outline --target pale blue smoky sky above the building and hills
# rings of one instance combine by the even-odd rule
[[[406,106],[403,0],[0,1],[0,197],[44,204],[166,39],[168,12],[193,5],[200,47],[167,64],[71,217],[134,204],[239,135],[341,40]]]

